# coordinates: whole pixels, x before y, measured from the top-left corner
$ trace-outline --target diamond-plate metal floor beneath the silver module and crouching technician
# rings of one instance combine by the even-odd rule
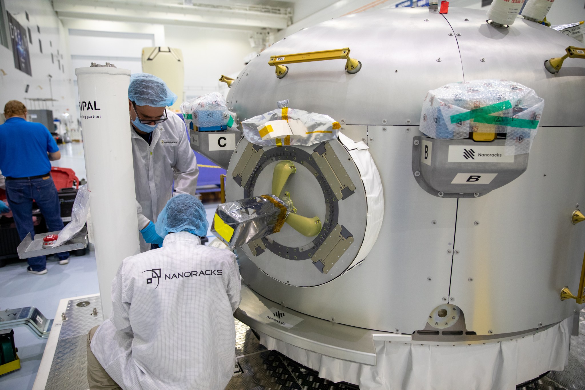
[[[77,306],[80,302],[85,306]],[[61,326],[59,341],[47,380],[47,390],[86,390],[87,332],[102,322],[99,296],[68,302],[67,320]],[[359,390],[355,385],[333,383],[318,373],[277,351],[266,350],[252,329],[235,320],[236,359],[242,370],[235,374],[226,390]],[[549,374],[520,390],[585,390],[585,310],[580,313],[579,336],[571,337],[569,364],[563,371]]]

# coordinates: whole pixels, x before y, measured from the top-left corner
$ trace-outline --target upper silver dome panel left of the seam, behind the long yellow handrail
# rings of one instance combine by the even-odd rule
[[[342,126],[404,125],[407,120],[418,125],[429,89],[463,81],[457,41],[448,35],[452,31],[442,15],[423,7],[328,20],[280,40],[250,61],[247,75],[229,90],[228,106],[245,120],[289,99],[291,108],[345,119]],[[279,80],[268,65],[277,54],[336,47],[350,47],[362,70],[348,74],[338,61],[298,63]]]

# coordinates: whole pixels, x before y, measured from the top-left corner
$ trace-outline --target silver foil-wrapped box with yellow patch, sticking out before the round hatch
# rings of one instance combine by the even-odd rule
[[[215,210],[211,232],[230,249],[280,232],[290,210],[274,195],[222,203]]]

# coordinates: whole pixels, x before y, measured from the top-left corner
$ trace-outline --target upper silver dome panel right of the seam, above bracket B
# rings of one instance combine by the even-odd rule
[[[519,82],[545,99],[541,127],[583,126],[583,98],[577,96],[583,91],[585,61],[567,58],[563,72],[556,75],[544,67],[545,60],[562,56],[567,46],[580,46],[580,42],[522,18],[507,29],[498,29],[486,23],[484,11],[450,8],[443,15],[453,31],[461,33],[456,40],[465,80],[503,78]]]

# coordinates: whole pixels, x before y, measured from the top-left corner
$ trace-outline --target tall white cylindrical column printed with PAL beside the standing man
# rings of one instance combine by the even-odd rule
[[[128,114],[130,71],[75,69],[87,185],[104,318],[112,311],[111,284],[122,260],[140,253]]]

